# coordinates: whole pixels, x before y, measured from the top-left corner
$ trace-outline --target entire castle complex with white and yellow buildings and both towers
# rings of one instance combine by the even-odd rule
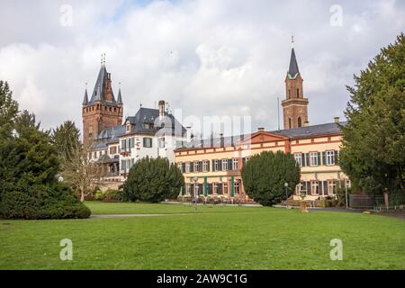
[[[285,77],[282,102],[284,130],[257,132],[241,136],[193,139],[187,130],[166,111],[165,101],[158,109],[139,108],[122,123],[121,88],[115,100],[111,75],[102,63],[90,101],[85,90],[83,102],[83,141],[92,145],[90,157],[103,171],[103,178],[123,181],[130,167],[141,157],[167,157],[184,174],[184,197],[213,197],[239,202],[248,201],[240,174],[249,158],[262,151],[292,153],[301,166],[302,182],[294,197],[302,192],[310,200],[334,197],[342,183],[350,185],[338,166],[342,131],[338,117],[334,121],[309,125],[309,101],[303,94],[303,79],[295,50]]]

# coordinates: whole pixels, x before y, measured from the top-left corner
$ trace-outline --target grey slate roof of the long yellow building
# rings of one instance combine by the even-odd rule
[[[339,122],[340,125],[346,125],[346,121]],[[307,127],[300,127],[288,130],[273,130],[267,131],[275,135],[285,136],[291,139],[308,138],[313,136],[329,135],[341,133],[338,124],[335,122],[325,123],[320,125],[313,125]],[[253,134],[253,133],[252,133]],[[233,137],[224,137],[224,146],[232,146],[232,143],[238,142],[238,140],[248,139],[252,134],[238,135]],[[233,139],[232,139],[233,138]],[[220,138],[215,137],[213,139],[198,139],[190,142],[176,143],[176,147],[180,147],[177,150],[189,149],[189,148],[211,148],[220,147]]]

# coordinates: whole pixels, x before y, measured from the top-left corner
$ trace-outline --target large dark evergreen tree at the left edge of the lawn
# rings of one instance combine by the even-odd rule
[[[58,155],[49,133],[39,130],[35,115],[19,114],[8,85],[0,85],[0,121],[4,125],[0,138],[0,217],[88,217],[88,208],[78,202],[69,187],[58,183]]]

